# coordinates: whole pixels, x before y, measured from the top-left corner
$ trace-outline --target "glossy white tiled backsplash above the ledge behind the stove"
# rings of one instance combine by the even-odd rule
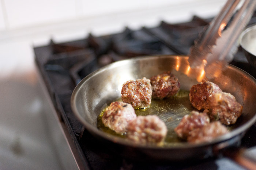
[[[176,10],[176,6],[188,4],[191,5],[191,10],[194,10],[193,6],[196,7],[200,3],[219,5],[221,1],[225,2],[226,0],[206,2],[203,0],[1,0],[0,31],[44,26],[81,18],[108,15],[118,17],[122,13],[133,15],[134,12],[139,13],[151,9],[153,9],[152,12],[160,11],[161,13],[161,9],[170,8],[172,10],[173,8]],[[182,16],[183,13],[178,11],[177,15]],[[156,18],[159,13],[151,13],[151,15]],[[137,17],[140,18],[139,15]],[[168,18],[168,16],[166,17]]]

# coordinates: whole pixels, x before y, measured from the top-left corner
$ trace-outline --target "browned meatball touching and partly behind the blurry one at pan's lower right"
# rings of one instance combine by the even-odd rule
[[[197,128],[202,128],[208,123],[210,123],[210,119],[207,113],[192,111],[190,115],[185,115],[181,119],[174,131],[180,138],[187,139],[191,131]]]

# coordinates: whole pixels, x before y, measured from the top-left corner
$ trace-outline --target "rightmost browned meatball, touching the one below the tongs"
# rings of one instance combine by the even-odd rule
[[[219,120],[222,124],[234,124],[241,116],[242,105],[230,93],[218,92],[209,96],[210,118]]]

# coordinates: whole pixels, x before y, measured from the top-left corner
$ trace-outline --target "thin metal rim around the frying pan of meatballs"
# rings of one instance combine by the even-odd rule
[[[82,88],[82,85],[88,81],[90,78],[92,78],[93,76],[95,76],[96,74],[99,74],[101,72],[103,72],[106,69],[110,69],[111,67],[115,67],[116,65],[121,65],[121,64],[125,64],[125,62],[128,61],[133,61],[136,62],[137,60],[140,59],[147,59],[147,58],[151,58],[151,57],[161,57],[161,58],[169,58],[169,57],[182,57],[182,58],[187,58],[188,56],[185,55],[149,55],[149,56],[138,56],[138,57],[134,57],[132,59],[124,59],[121,61],[116,61],[113,62],[107,66],[104,66],[96,71],[94,71],[93,73],[90,73],[88,76],[86,76],[85,78],[83,78],[82,81],[79,82],[79,84],[75,87],[75,89],[72,92],[71,95],[71,108],[72,111],[74,112],[75,116],[78,118],[78,120],[86,127],[86,129],[93,135],[97,135],[101,138],[107,139],[110,142],[113,142],[115,144],[121,144],[121,145],[125,145],[125,146],[129,146],[129,147],[135,147],[135,148],[141,148],[141,149],[157,149],[157,150],[174,150],[174,149],[188,149],[188,148],[196,148],[196,147],[206,147],[206,146],[212,146],[214,144],[219,144],[222,142],[225,142],[231,138],[234,138],[235,136],[238,136],[240,134],[242,134],[243,132],[245,132],[246,130],[248,130],[255,122],[256,122],[256,113],[255,115],[249,120],[247,121],[245,124],[239,126],[238,128],[230,131],[229,133],[222,135],[214,140],[211,140],[210,142],[203,142],[203,143],[188,143],[188,142],[182,142],[182,143],[175,143],[175,145],[166,145],[166,146],[157,146],[156,144],[140,144],[140,143],[133,143],[131,141],[128,141],[127,139],[124,138],[120,138],[118,136],[114,136],[114,135],[106,135],[105,132],[100,131],[97,127],[91,125],[90,123],[87,123],[86,120],[84,120],[79,112],[78,109],[76,108],[76,96],[78,95],[78,91],[80,90],[80,88]],[[252,77],[250,74],[246,73],[244,70],[233,66],[231,64],[229,64],[227,67],[229,67],[229,69],[235,69],[235,70],[239,70],[242,74],[244,74],[247,78],[249,78],[250,80],[252,80],[252,82],[255,84],[256,86],[256,80],[254,77]]]

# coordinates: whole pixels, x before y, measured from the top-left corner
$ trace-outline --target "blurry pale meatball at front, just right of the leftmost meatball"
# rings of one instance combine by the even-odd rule
[[[165,123],[155,115],[138,116],[127,127],[127,138],[136,143],[160,143],[166,134]]]

